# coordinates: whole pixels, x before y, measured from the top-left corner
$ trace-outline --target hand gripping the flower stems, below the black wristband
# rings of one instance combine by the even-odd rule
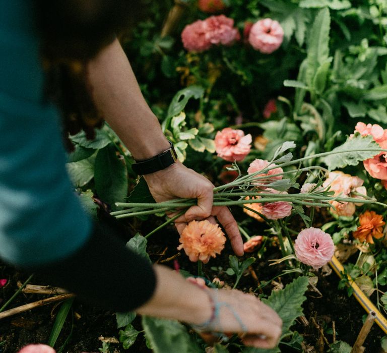
[[[144,175],[144,178],[157,202],[174,198],[198,199],[197,205],[191,206],[185,214],[175,220],[180,234],[191,220],[208,219],[215,224],[216,217],[225,229],[234,253],[238,256],[243,255],[243,241],[238,225],[226,206],[213,206],[214,185],[207,178],[178,161],[164,170]]]

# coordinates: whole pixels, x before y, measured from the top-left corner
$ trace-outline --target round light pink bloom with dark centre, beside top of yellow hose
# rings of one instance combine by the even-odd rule
[[[313,227],[298,233],[294,248],[297,258],[315,270],[327,264],[335,252],[331,236]]]

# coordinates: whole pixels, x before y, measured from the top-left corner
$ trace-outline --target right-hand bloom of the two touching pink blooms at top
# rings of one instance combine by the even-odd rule
[[[224,15],[210,16],[204,20],[205,37],[211,44],[229,45],[240,39],[234,20]]]

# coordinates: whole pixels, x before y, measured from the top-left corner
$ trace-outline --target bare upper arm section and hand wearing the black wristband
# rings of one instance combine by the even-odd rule
[[[102,49],[88,64],[91,92],[97,108],[135,159],[147,159],[165,151],[169,143],[157,117],[146,103],[130,63],[118,40]],[[179,232],[193,219],[218,221],[224,226],[235,254],[243,255],[238,226],[227,207],[213,207],[213,185],[180,162],[144,176],[156,201],[197,198],[175,224]]]

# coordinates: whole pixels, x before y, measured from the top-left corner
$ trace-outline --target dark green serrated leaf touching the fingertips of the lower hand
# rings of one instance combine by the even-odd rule
[[[275,310],[282,319],[283,334],[287,333],[294,321],[302,315],[301,305],[306,300],[304,293],[308,283],[307,277],[300,276],[284,289],[272,291],[268,299],[262,299],[262,302]]]

